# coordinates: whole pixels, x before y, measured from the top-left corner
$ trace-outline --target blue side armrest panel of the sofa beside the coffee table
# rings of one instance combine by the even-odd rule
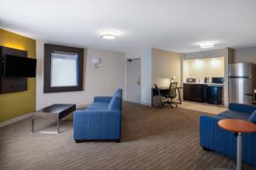
[[[120,139],[120,111],[75,111],[74,139]]]

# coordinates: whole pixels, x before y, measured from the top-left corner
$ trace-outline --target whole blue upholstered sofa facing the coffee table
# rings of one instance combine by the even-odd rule
[[[114,140],[121,138],[123,90],[118,89],[112,97],[98,96],[87,109],[75,111],[73,138],[83,140]]]

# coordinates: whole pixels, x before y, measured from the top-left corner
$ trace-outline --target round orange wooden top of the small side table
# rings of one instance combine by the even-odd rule
[[[256,132],[256,124],[239,119],[223,119],[218,121],[218,126],[233,133]]]

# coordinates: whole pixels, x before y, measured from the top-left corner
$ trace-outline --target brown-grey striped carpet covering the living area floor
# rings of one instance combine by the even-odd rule
[[[181,108],[157,109],[125,102],[122,139],[73,140],[73,122],[61,122],[61,134],[31,133],[29,119],[0,128],[0,169],[211,169],[235,160],[199,145],[201,113]],[[55,130],[38,121],[36,129]],[[49,126],[45,129],[46,126]],[[256,169],[244,164],[244,170]]]

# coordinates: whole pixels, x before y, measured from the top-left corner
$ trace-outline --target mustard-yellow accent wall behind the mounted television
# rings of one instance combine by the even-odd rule
[[[27,51],[29,58],[36,58],[36,41],[0,29],[0,46]],[[36,79],[27,79],[27,91],[0,94],[0,122],[36,110]]]

